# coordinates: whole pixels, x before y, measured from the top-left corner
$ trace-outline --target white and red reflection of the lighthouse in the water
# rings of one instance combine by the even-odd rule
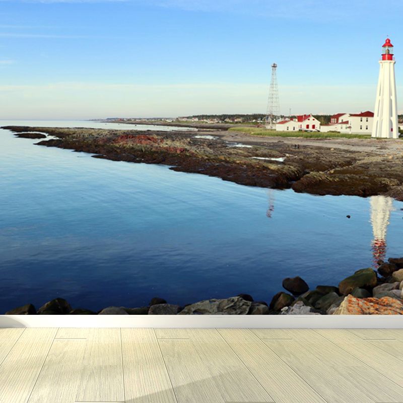
[[[374,267],[378,267],[378,260],[386,256],[386,231],[389,225],[390,212],[393,208],[393,198],[385,196],[371,197],[371,224],[373,232],[372,255]]]

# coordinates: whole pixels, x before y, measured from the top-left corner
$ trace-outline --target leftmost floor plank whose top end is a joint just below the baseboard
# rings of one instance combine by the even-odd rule
[[[55,339],[28,403],[75,403],[85,340]]]

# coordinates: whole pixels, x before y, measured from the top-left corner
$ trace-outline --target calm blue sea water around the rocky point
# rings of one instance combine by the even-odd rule
[[[315,287],[371,266],[373,230],[386,227],[387,255],[403,256],[403,203],[373,200],[373,228],[369,198],[241,186],[36,142],[0,130],[0,313],[57,296],[94,310],[154,296],[270,302],[285,277]]]

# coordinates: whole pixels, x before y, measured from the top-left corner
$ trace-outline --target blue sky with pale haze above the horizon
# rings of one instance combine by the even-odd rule
[[[386,35],[401,112],[402,12],[396,0],[0,0],[0,119],[264,113],[273,62],[282,113],[372,110]]]

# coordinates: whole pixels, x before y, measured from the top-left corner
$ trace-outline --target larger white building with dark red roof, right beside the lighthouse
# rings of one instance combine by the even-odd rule
[[[337,113],[330,117],[329,124],[322,124],[320,131],[339,131],[358,135],[372,133],[374,113],[367,110],[361,113]]]

